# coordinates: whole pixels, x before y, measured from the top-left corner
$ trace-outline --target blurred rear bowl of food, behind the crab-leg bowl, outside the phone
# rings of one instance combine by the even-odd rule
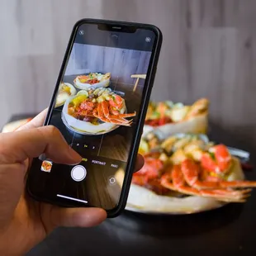
[[[209,100],[201,98],[191,106],[183,102],[149,102],[144,134],[158,131],[168,137],[176,133],[202,133],[208,131]],[[163,136],[162,135],[162,136]]]

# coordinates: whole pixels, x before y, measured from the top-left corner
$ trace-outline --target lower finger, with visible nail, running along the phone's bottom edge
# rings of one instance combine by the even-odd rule
[[[92,227],[107,218],[107,213],[100,208],[62,208],[41,204],[41,217],[47,233],[56,227]]]

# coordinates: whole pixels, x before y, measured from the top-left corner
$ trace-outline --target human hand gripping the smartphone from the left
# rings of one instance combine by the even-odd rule
[[[102,209],[61,208],[27,197],[24,180],[31,159],[43,153],[59,164],[82,159],[54,126],[40,127],[46,112],[15,132],[0,134],[0,255],[26,254],[58,226],[90,227],[107,217]],[[139,156],[135,169],[143,164]]]

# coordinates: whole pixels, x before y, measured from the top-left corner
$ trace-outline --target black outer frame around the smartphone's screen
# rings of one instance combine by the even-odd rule
[[[133,169],[135,168],[135,161],[136,161],[136,155],[139,149],[140,145],[140,137],[142,134],[143,126],[144,126],[144,121],[145,121],[145,115],[147,111],[147,107],[149,104],[149,98],[150,98],[150,92],[153,87],[154,83],[154,76],[156,73],[157,69],[157,63],[159,59],[159,53],[162,45],[162,33],[159,30],[157,26],[149,25],[149,24],[142,24],[142,23],[135,23],[135,22],[126,22],[126,21],[107,21],[107,20],[97,20],[97,19],[82,19],[76,22],[76,24],[73,26],[73,31],[71,33],[71,36],[69,38],[69,43],[64,55],[63,62],[60,67],[59,75],[56,80],[54,92],[53,92],[53,97],[50,100],[50,106],[49,110],[45,116],[45,121],[43,126],[48,126],[49,121],[50,121],[50,116],[52,115],[52,111],[54,110],[55,107],[55,97],[57,96],[58,90],[59,90],[59,83],[61,82],[61,79],[63,78],[64,71],[66,69],[66,66],[69,61],[69,55],[71,54],[72,48],[73,48],[73,43],[75,40],[75,37],[77,35],[78,28],[83,25],[83,24],[97,24],[99,26],[105,26],[109,28],[109,30],[115,30],[115,27],[121,27],[121,29],[125,29],[127,31],[133,31],[137,28],[140,29],[145,29],[145,30],[150,30],[154,31],[155,34],[155,40],[154,40],[154,46],[152,49],[152,54],[151,58],[149,61],[149,68],[148,68],[148,73],[147,73],[147,78],[145,79],[145,87],[143,89],[143,94],[141,97],[141,104],[140,104],[140,111],[138,112],[139,120],[138,120],[138,128],[135,130],[135,136],[133,138],[132,148],[130,149],[128,159],[127,159],[127,165],[126,165],[126,171],[125,171],[125,177],[123,181],[123,186],[121,187],[121,195],[118,203],[116,204],[116,207],[107,210],[107,216],[108,217],[115,217],[120,214],[122,210],[126,207],[126,201],[130,189],[130,183],[131,183],[131,178],[133,174]],[[114,28],[113,28],[114,27]],[[33,168],[33,164],[31,164],[31,169]],[[31,171],[30,169],[30,171]],[[29,171],[29,172],[30,172]],[[31,197],[33,197],[36,201],[45,201],[51,204],[55,204],[58,206],[68,206],[68,207],[78,207],[78,206],[83,206],[82,204],[78,203],[77,201],[72,201],[69,204],[60,202],[58,200],[51,200],[49,198],[42,198],[36,196],[35,193],[33,193],[30,189],[29,186],[29,172],[27,175],[27,183],[26,183],[26,190],[29,193]]]

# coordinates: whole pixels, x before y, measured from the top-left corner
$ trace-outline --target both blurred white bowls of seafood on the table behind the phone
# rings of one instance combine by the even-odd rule
[[[249,153],[209,140],[208,108],[206,98],[192,106],[154,103],[154,111],[149,105],[139,149],[145,165],[133,174],[127,211],[183,215],[247,201],[256,187],[241,164]],[[123,177],[116,173],[118,183]]]

